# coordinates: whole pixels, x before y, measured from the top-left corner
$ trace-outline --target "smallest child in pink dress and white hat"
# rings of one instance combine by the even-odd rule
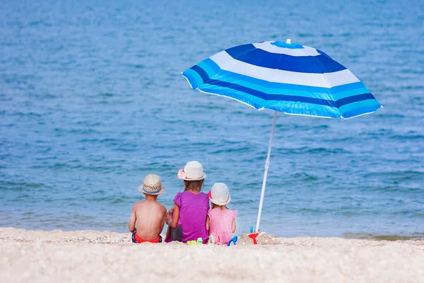
[[[235,232],[235,216],[237,216],[236,210],[226,207],[231,200],[228,187],[224,183],[215,183],[208,195],[212,209],[208,211],[206,229],[209,231],[209,236],[213,236],[215,243],[227,244]]]

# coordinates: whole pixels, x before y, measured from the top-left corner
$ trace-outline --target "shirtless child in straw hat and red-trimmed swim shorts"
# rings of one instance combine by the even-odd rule
[[[136,202],[131,209],[128,229],[132,233],[133,243],[162,243],[163,225],[165,224],[166,207],[160,204],[158,195],[165,192],[158,175],[147,175],[143,185],[139,187],[146,200]]]

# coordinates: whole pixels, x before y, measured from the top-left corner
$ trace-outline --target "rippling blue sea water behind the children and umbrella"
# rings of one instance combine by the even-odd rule
[[[0,226],[127,231],[138,186],[197,160],[256,224],[273,112],[193,91],[184,69],[264,40],[326,52],[384,108],[278,115],[261,231],[424,237],[423,1],[1,1]]]

